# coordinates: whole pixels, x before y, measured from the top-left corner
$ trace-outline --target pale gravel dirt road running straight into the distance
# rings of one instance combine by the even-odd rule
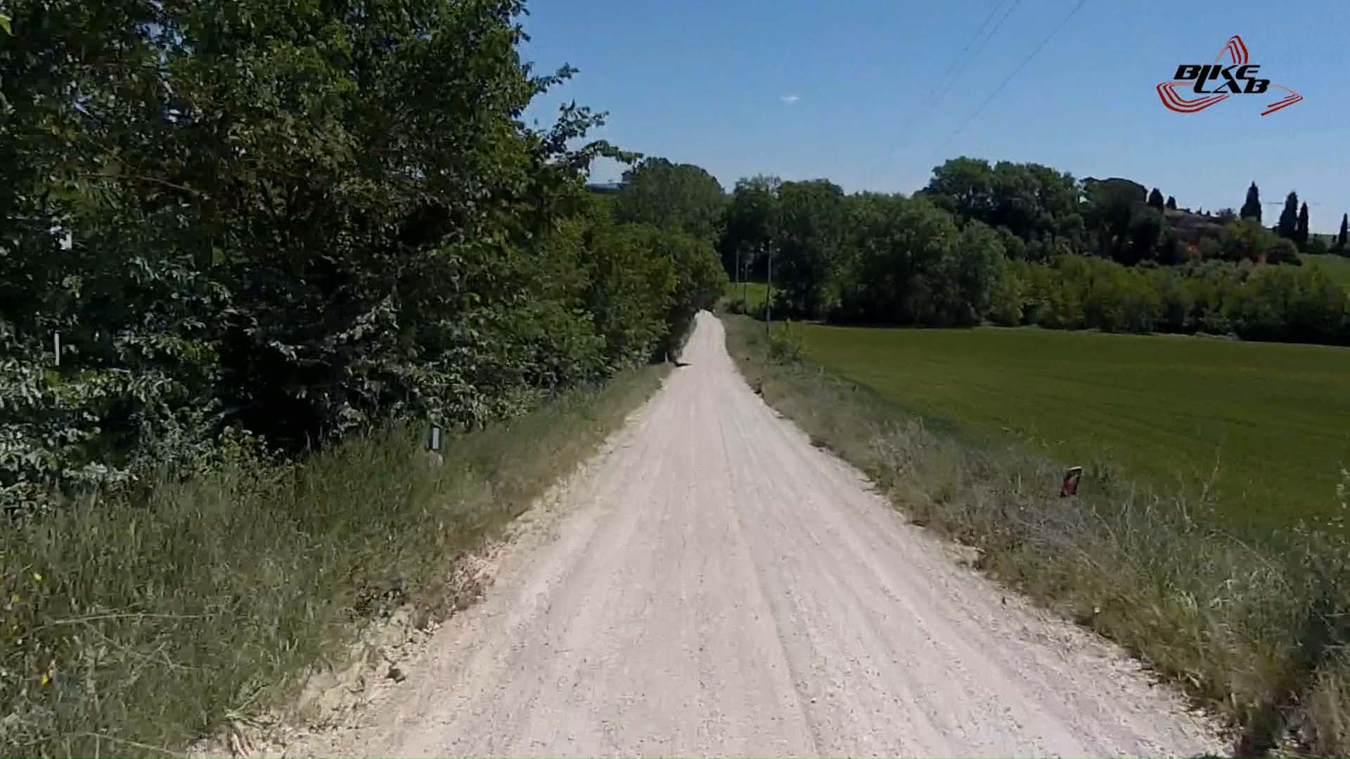
[[[755,396],[698,317],[524,517],[483,602],[320,754],[1197,755],[1118,650],[953,562]]]

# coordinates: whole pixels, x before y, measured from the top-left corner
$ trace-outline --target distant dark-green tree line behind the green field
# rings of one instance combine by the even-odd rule
[[[1256,185],[1241,217],[1211,216],[1130,180],[957,158],[913,197],[742,180],[720,247],[760,278],[772,255],[784,316],[1350,343],[1345,290],[1297,266],[1307,208],[1292,193],[1285,216],[1288,236],[1261,226]]]

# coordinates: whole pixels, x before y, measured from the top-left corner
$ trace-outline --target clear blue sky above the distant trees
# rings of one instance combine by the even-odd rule
[[[964,154],[1130,177],[1206,209],[1241,207],[1256,180],[1268,204],[1297,190],[1314,231],[1339,227],[1350,211],[1350,3],[1085,0],[957,131],[1077,3],[536,1],[524,57],[580,72],[526,116],[549,122],[575,99],[610,113],[599,136],[698,163],[728,189],[764,173],[909,193]],[[981,36],[1002,27],[963,55],[991,8]],[[1179,63],[1214,61],[1234,34],[1260,76],[1304,100],[1269,116],[1256,95],[1199,113],[1164,108],[1157,82]],[[964,73],[930,97],[957,61]],[[593,178],[621,172],[601,165]],[[1268,224],[1278,211],[1265,207]]]

